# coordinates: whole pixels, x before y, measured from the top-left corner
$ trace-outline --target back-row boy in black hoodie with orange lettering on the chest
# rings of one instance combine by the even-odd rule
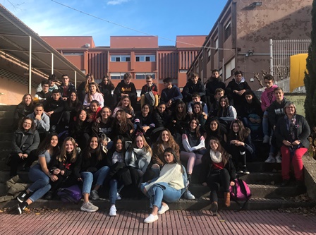
[[[114,89],[113,100],[114,104],[117,105],[122,96],[128,95],[128,97],[130,97],[130,104],[133,109],[135,109],[137,103],[137,92],[134,83],[131,82],[131,79],[132,76],[130,73],[124,74],[123,80],[121,80],[121,83],[119,83]]]

